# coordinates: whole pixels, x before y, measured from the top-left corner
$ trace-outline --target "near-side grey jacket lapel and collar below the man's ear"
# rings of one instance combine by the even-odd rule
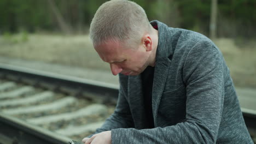
[[[160,104],[162,92],[164,91],[168,77],[168,68],[171,64],[172,46],[171,33],[168,27],[159,21],[153,21],[158,25],[158,48],[156,50],[156,64],[154,71],[154,82],[152,91],[152,110],[155,127],[157,125],[158,107]]]

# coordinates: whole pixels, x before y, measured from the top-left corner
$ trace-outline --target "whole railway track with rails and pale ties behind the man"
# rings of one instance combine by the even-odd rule
[[[106,83],[0,64],[0,144],[80,141],[113,113],[117,95]],[[243,116],[255,141],[256,114]]]

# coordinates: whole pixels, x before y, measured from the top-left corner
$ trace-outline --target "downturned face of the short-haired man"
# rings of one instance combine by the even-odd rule
[[[131,49],[120,42],[108,40],[94,48],[101,59],[110,64],[113,75],[139,75],[148,66],[150,52],[143,44]]]

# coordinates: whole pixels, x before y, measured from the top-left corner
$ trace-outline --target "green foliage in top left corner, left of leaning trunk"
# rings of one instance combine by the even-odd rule
[[[1,0],[0,31],[19,32],[24,28],[34,32],[36,28],[52,27],[45,1],[38,0]]]

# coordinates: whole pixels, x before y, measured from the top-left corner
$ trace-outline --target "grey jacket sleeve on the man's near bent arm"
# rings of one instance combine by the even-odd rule
[[[187,93],[185,120],[164,128],[113,129],[112,143],[216,143],[224,103],[223,62],[211,43],[196,44],[182,72]]]

